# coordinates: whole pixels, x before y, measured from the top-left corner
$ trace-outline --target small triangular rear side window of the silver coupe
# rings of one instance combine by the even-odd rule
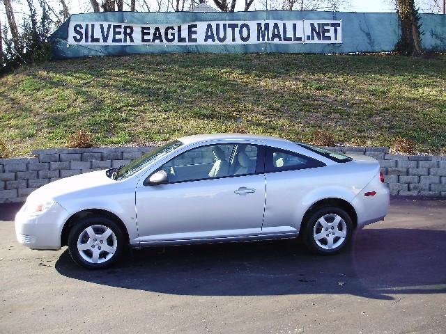
[[[266,151],[266,170],[279,172],[281,170],[296,170],[325,166],[323,162],[279,148],[268,148]]]

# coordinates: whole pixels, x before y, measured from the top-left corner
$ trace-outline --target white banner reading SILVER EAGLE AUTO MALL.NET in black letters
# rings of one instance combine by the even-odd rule
[[[68,45],[341,43],[341,20],[208,21],[178,25],[73,22]]]

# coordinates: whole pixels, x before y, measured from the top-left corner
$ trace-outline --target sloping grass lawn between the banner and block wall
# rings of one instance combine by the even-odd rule
[[[159,143],[250,132],[446,152],[446,56],[169,54],[21,67],[0,78],[0,138],[13,156],[66,145]]]

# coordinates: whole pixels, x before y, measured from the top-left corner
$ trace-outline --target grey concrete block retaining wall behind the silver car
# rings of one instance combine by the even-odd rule
[[[394,155],[388,148],[330,148],[346,154],[365,154],[380,163],[392,195],[446,196],[446,156]],[[93,170],[118,167],[153,147],[56,148],[33,150],[31,158],[0,159],[0,203],[24,202],[44,184]]]

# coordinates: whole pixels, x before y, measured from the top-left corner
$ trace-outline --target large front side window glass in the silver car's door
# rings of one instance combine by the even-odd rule
[[[179,154],[164,164],[169,183],[256,173],[256,145],[206,145]]]

